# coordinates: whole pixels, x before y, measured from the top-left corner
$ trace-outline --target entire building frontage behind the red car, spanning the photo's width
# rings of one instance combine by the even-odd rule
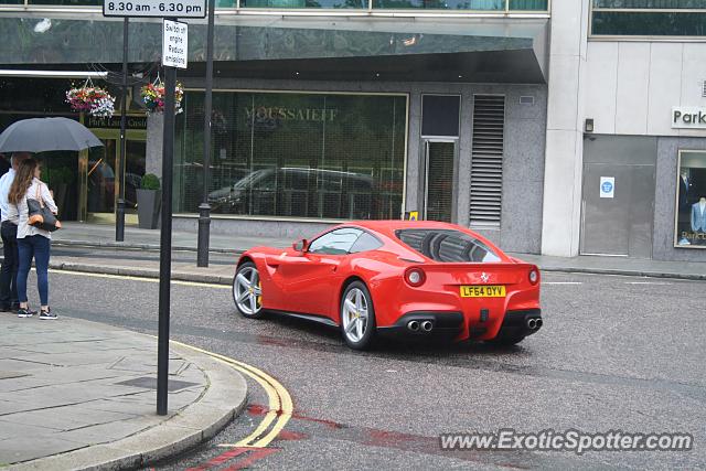
[[[46,164],[76,170],[72,216],[110,221],[120,188],[129,204],[161,174],[161,116],[139,99],[160,22],[130,20],[118,169],[119,118],[72,114],[60,72],[107,71],[117,93],[122,22],[94,0],[0,3],[0,67],[28,71],[2,77],[0,126],[83,119],[105,149]],[[704,19],[676,0],[218,1],[212,231],[296,238],[419,211],[511,251],[706,260]],[[195,231],[205,24],[188,22],[173,208]]]

